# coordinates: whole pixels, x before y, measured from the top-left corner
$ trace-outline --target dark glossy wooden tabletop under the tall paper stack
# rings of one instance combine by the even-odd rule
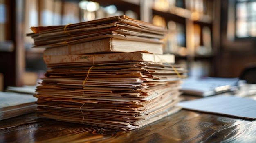
[[[0,121],[0,143],[256,143],[256,120],[181,110],[145,127],[120,131],[36,117]]]

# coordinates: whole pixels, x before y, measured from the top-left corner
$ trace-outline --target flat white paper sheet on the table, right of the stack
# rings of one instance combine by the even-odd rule
[[[256,100],[232,95],[204,97],[178,104],[184,109],[256,119]]]

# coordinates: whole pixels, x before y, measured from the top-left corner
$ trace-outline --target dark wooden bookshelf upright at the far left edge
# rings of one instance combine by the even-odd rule
[[[21,1],[16,0],[1,0],[4,4],[5,20],[4,37],[1,39],[4,45],[9,45],[9,51],[0,50],[0,73],[3,75],[3,89],[7,86],[22,86],[21,77],[24,69],[25,60],[22,47],[22,39],[20,33],[22,32],[20,11],[22,5]],[[3,31],[1,30],[1,33]],[[14,48],[13,48],[14,47]]]

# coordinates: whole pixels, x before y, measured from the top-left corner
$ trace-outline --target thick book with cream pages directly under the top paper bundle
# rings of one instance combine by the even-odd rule
[[[137,52],[144,50],[149,53],[163,54],[163,44],[109,37],[89,42],[46,48],[43,55],[78,55],[103,52]]]

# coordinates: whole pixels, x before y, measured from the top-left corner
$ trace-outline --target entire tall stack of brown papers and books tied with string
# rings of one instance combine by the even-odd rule
[[[48,68],[34,95],[39,117],[132,130],[181,109],[186,71],[163,54],[167,29],[124,15],[31,29]]]

